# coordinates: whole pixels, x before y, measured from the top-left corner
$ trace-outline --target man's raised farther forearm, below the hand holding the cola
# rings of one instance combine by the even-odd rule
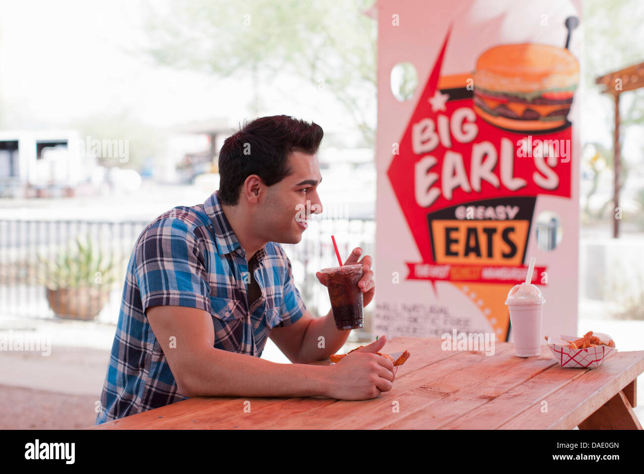
[[[350,330],[338,331],[332,311],[308,324],[299,348],[298,361],[302,363],[324,360],[335,354],[345,344]],[[324,339],[320,339],[320,337]]]

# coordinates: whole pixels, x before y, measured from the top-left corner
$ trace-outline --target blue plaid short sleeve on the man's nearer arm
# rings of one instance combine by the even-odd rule
[[[204,252],[180,219],[162,218],[138,239],[136,279],[145,313],[149,306],[211,311]]]

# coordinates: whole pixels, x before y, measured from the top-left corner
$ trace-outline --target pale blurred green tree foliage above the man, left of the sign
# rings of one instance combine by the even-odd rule
[[[155,63],[251,77],[251,108],[259,115],[259,84],[278,72],[300,77],[343,105],[368,145],[375,143],[377,25],[363,11],[373,0],[198,0],[150,8],[139,50]],[[152,5],[151,5],[152,6]],[[272,84],[279,90],[279,84]],[[290,91],[280,90],[283,94]],[[370,106],[366,106],[370,103]]]

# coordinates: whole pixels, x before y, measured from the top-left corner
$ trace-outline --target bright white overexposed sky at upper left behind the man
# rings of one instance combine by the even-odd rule
[[[120,111],[162,128],[215,117],[236,126],[250,117],[250,81],[159,67],[129,52],[141,39],[146,8],[147,2],[131,0],[0,0],[5,126],[64,126]],[[341,107],[315,86],[271,79],[260,90],[266,115],[314,120],[325,131],[350,126]],[[272,84],[295,92],[276,95]]]

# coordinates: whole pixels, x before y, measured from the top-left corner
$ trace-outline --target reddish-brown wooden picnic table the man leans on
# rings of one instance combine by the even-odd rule
[[[444,351],[441,342],[388,342],[384,351],[411,357],[392,390],[371,400],[195,397],[92,428],[642,429],[632,407],[644,351],[616,352],[594,369],[562,368],[547,346],[520,358],[509,342],[497,342],[494,355]]]

